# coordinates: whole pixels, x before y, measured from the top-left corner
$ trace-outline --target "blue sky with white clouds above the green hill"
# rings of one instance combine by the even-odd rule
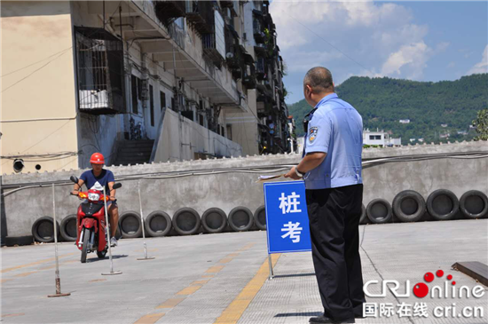
[[[328,67],[336,84],[353,75],[435,82],[488,72],[484,1],[275,0],[271,12],[288,104],[303,99],[303,75],[315,66]]]

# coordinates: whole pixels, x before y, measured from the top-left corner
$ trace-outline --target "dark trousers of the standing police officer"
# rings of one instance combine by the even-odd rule
[[[363,276],[359,218],[363,185],[307,190],[311,252],[324,315],[346,320],[362,315]]]

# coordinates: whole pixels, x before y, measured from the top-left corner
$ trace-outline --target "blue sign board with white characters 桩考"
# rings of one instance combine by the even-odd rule
[[[268,254],[311,251],[303,181],[264,184]]]

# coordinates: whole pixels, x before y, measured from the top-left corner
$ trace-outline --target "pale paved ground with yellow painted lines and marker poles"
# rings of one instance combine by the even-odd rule
[[[364,280],[423,281],[424,273],[444,270],[456,285],[473,288],[476,281],[451,270],[461,261],[488,264],[488,220],[458,220],[413,224],[361,225]],[[273,255],[275,278],[267,281],[265,232],[202,234],[122,240],[114,248],[114,270],[102,276],[109,261],[91,253],[81,264],[72,242],[59,244],[62,292],[55,293],[54,245],[3,248],[2,323],[308,323],[321,312],[311,253]],[[445,278],[437,279],[444,287]],[[436,281],[432,282],[435,284]],[[429,317],[379,319],[357,323],[486,323],[488,290],[482,298],[396,300],[366,298],[368,302],[424,302]],[[372,286],[374,293],[380,288]],[[405,288],[400,289],[401,292]],[[484,318],[435,318],[434,307],[484,308]]]

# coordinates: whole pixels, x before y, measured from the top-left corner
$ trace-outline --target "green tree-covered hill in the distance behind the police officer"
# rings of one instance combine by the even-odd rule
[[[438,143],[476,135],[469,125],[479,110],[488,107],[488,74],[437,83],[354,76],[336,92],[358,109],[365,128],[388,131],[392,137],[401,137],[404,145],[410,138]],[[301,122],[311,107],[303,99],[288,108],[297,122],[297,134],[303,135]],[[410,123],[400,123],[400,119]],[[468,134],[458,134],[463,130]]]

